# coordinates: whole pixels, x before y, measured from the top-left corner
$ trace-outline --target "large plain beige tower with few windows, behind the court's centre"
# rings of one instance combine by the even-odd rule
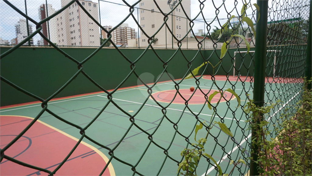
[[[168,5],[168,3],[170,5]],[[169,13],[171,11],[170,7],[173,4],[177,4],[177,0],[162,0],[157,1],[158,6],[164,13]],[[188,17],[191,16],[191,1],[190,0],[183,0],[182,2],[183,8],[188,15]],[[173,6],[174,8],[175,6]],[[142,0],[139,3],[139,22],[143,30],[146,32],[147,35],[152,36],[163,24],[163,14],[160,13],[157,6],[155,5],[154,1],[150,0]],[[172,12],[173,16],[169,15],[169,19],[167,21],[168,26],[172,29],[173,35],[178,38],[178,40],[181,40],[188,31],[188,22],[185,18],[186,15],[184,14],[181,5],[177,6],[177,8]],[[140,31],[140,38],[139,38],[139,45],[141,46],[147,46],[148,45],[148,38],[144,35],[142,31]],[[166,40],[167,36],[167,40]],[[191,33],[188,34],[187,37],[191,37]],[[173,38],[172,35],[166,30],[166,26],[163,26],[162,29],[156,34],[155,39],[157,41],[153,44],[153,47],[157,47],[156,45],[167,45],[171,46],[171,43],[177,42]],[[174,44],[176,45],[176,44]]]

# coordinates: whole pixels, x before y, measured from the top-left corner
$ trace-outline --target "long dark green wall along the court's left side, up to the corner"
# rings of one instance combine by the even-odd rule
[[[1,47],[0,53],[9,50],[9,47]],[[78,61],[82,61],[95,49],[93,48],[62,48],[67,54]],[[143,49],[120,49],[131,61],[137,59]],[[158,55],[167,61],[176,50],[156,50]],[[197,50],[182,50],[187,59],[193,59]],[[194,67],[202,64],[203,58],[198,55],[194,61]],[[182,78],[186,74],[188,66],[180,51],[168,63],[168,72],[174,78]],[[77,71],[77,64],[66,58],[54,48],[49,47],[20,47],[0,60],[2,77],[15,83],[21,88],[43,99],[48,98],[66,83]],[[135,71],[138,75],[148,72],[157,77],[163,71],[163,63],[155,56],[152,50],[147,50],[137,62]],[[93,80],[106,90],[114,89],[130,73],[130,63],[124,59],[117,50],[111,48],[101,49],[90,60],[83,64],[84,71]],[[3,81],[0,84],[1,106],[37,101],[29,97]],[[121,86],[137,85],[137,78],[132,74]],[[79,74],[57,97],[71,96],[82,93],[100,91],[84,75]]]

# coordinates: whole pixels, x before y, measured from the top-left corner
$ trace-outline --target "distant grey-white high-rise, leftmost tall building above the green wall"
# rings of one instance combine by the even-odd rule
[[[32,34],[32,25],[28,23],[28,29],[29,29],[29,35]],[[15,33],[16,33],[16,38],[17,38],[17,43],[21,43],[25,38],[28,37],[28,33],[27,33],[27,23],[26,23],[26,19],[20,19],[19,21],[17,21],[17,23],[15,24]],[[26,43],[24,43],[23,45],[28,45],[27,41]],[[30,45],[33,45],[33,39],[30,39]]]

